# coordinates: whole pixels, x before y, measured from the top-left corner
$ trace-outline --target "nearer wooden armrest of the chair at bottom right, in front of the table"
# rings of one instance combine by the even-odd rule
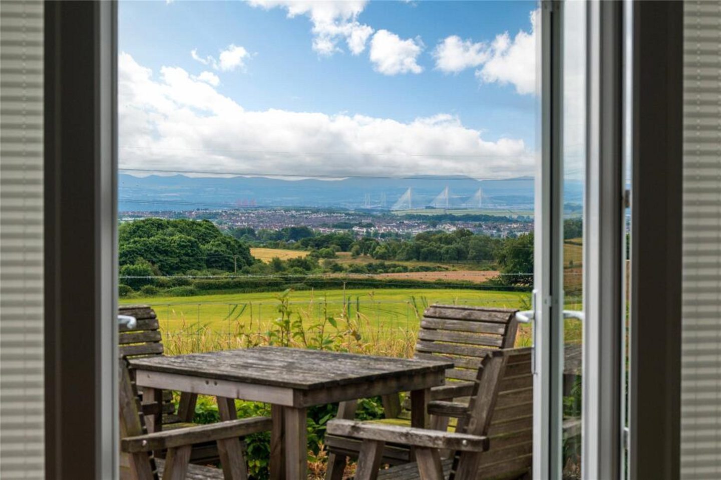
[[[327,430],[331,435],[355,437],[363,440],[403,443],[420,448],[439,448],[483,452],[488,450],[488,438],[464,433],[441,432],[424,428],[400,427],[354,420],[331,420]]]

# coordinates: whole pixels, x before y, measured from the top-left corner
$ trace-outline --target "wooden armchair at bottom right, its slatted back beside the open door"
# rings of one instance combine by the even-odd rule
[[[530,479],[533,452],[531,348],[489,352],[469,403],[433,401],[428,412],[459,419],[456,432],[377,422],[332,420],[331,435],[361,442],[355,480]],[[387,470],[387,442],[412,445],[415,463]],[[441,459],[442,450],[451,450]]]

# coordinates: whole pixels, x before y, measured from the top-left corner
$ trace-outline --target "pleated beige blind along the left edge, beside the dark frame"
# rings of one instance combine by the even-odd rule
[[[42,479],[42,1],[0,1],[0,98],[0,478]]]

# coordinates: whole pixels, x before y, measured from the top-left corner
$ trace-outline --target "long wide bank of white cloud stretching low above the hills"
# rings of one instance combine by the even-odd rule
[[[201,74],[202,75],[202,74]],[[245,110],[177,67],[155,74],[120,53],[120,167],[248,175],[469,175],[534,170],[523,140],[490,141],[447,113],[392,118]]]

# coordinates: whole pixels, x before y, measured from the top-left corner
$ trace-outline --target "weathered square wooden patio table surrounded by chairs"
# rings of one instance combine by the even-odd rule
[[[136,358],[130,363],[136,383],[143,387],[143,401],[158,398],[162,390],[216,396],[221,420],[234,418],[234,398],[270,403],[273,480],[306,480],[309,406],[410,391],[412,425],[425,428],[430,388],[443,385],[445,370],[453,367],[445,361],[275,346]]]

